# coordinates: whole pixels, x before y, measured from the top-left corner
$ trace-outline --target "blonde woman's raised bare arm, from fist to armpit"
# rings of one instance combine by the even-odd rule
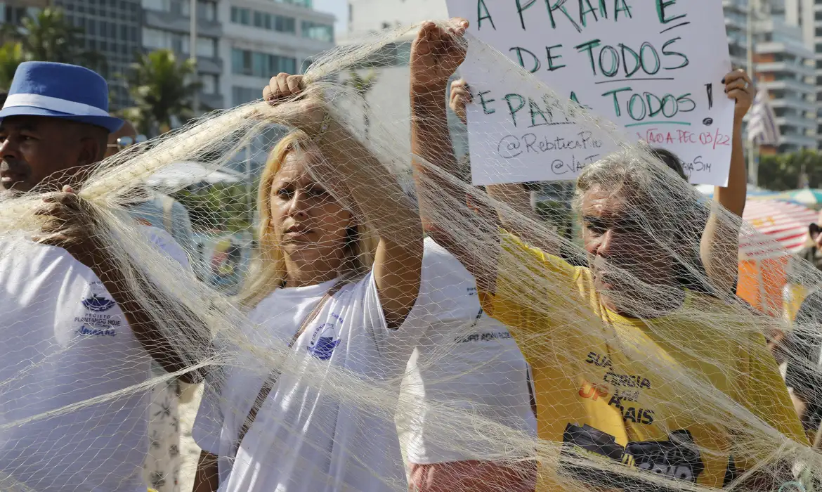
[[[313,137],[326,159],[316,166],[325,185],[339,196],[352,197],[357,216],[379,234],[374,278],[390,327],[399,327],[413,308],[423,268],[423,228],[396,179],[334,118],[325,118],[321,100],[311,91],[302,100],[302,76],[280,73],[272,77],[263,97],[272,104],[290,100],[293,124]]]

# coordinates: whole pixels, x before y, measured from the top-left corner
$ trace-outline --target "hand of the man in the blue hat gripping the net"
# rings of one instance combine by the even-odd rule
[[[99,219],[89,202],[65,186],[62,192],[46,194],[35,215],[45,219],[40,233],[32,238],[35,242],[65,249],[103,278],[105,272],[99,270],[108,263],[109,255],[95,237],[95,224]]]

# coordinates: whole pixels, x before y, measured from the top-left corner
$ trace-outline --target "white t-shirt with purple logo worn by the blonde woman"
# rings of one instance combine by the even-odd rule
[[[441,268],[444,255],[450,257],[432,245],[426,242],[417,302],[399,329],[386,327],[372,275],[346,285],[327,302],[288,352],[286,366],[293,370],[279,378],[236,455],[238,431],[266,374],[261,362],[246,356],[217,377],[223,378],[219,394],[206,390],[194,438],[220,457],[220,490],[377,492],[405,486],[392,413],[400,382],[419,337],[433,324],[464,318],[460,302],[436,298],[445,291],[440,282],[449,276],[425,273]],[[334,284],[275,290],[249,315],[261,323],[252,343],[282,347]],[[323,373],[328,367],[335,370]],[[309,387],[308,378],[319,374],[325,376]],[[351,379],[336,379],[345,375]],[[363,401],[339,404],[335,392],[358,394],[357,381],[364,387]],[[385,401],[372,401],[367,394],[375,386],[383,389]]]

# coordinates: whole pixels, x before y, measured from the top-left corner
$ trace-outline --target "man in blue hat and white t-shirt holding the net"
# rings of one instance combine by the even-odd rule
[[[0,238],[0,490],[145,492],[148,395],[127,388],[145,383],[152,357],[183,367],[159,314],[88,233],[95,212],[63,188],[81,185],[122,125],[108,94],[83,67],[27,62],[0,110],[0,186],[51,192],[38,238]],[[187,265],[169,234],[141,232]]]

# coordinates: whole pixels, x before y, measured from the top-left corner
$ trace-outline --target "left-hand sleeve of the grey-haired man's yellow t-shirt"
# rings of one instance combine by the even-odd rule
[[[512,234],[502,234],[497,261],[496,292],[479,292],[483,310],[506,324],[514,335],[535,333],[546,326],[567,324],[573,312],[593,316],[584,295],[593,295],[587,268],[574,267],[562,258],[524,244]],[[551,288],[546,287],[550,285]],[[580,290],[580,285],[586,288]],[[583,297],[580,297],[580,294]]]

